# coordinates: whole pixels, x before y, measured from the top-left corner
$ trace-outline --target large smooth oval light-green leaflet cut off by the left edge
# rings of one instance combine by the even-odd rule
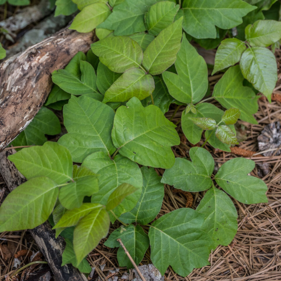
[[[45,222],[56,204],[58,185],[36,177],[8,194],[0,207],[0,232],[32,229]]]

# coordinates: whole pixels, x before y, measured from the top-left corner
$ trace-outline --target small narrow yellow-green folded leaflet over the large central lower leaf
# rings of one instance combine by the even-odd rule
[[[135,192],[137,189],[131,184],[120,184],[108,197],[106,210],[116,208],[128,195]],[[132,207],[133,208],[133,207]]]

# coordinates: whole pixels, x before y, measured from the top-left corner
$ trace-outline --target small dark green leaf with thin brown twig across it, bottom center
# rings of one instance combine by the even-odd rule
[[[138,265],[148,249],[149,239],[147,234],[139,225],[128,225],[126,227],[119,227],[112,232],[104,245],[110,248],[119,247],[117,251],[117,260],[119,266],[126,266],[127,269],[133,268],[131,261],[124,252],[117,239],[121,239],[129,254]]]

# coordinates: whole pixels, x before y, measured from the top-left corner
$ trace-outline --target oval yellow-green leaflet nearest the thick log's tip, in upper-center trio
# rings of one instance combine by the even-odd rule
[[[107,37],[91,44],[91,48],[102,64],[117,73],[139,67],[143,60],[140,45],[129,37]]]

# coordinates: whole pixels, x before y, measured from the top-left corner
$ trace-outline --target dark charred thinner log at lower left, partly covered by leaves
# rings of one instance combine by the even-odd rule
[[[0,153],[0,172],[8,189],[12,191],[26,181],[15,165],[7,159],[8,155],[16,153],[15,150],[6,150]],[[49,222],[29,230],[40,251],[46,258],[56,281],[86,281],[84,274],[80,273],[71,264],[61,266],[61,255],[65,248],[62,237],[55,238],[55,231]]]

